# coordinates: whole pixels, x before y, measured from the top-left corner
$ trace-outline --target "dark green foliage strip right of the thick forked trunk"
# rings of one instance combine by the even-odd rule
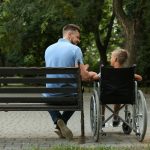
[[[144,80],[150,80],[150,1],[147,1],[144,7],[141,41],[137,50],[137,71],[143,75]]]

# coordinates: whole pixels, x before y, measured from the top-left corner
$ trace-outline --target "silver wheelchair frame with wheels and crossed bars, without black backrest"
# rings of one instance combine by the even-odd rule
[[[137,82],[135,83],[135,103],[131,104],[131,110],[129,109],[130,104],[121,104],[118,111],[125,109],[124,118],[117,115],[116,112],[105,104],[105,107],[112,113],[107,119],[103,120],[101,102],[101,91],[100,82],[94,82],[93,94],[91,95],[90,101],[90,122],[93,138],[97,142],[100,135],[104,135],[103,125],[108,122],[114,115],[118,116],[122,121],[122,129],[124,134],[130,134],[132,131],[135,133],[137,140],[142,142],[144,140],[147,130],[147,106],[144,94],[141,90],[138,90]],[[114,103],[115,104],[115,103]]]

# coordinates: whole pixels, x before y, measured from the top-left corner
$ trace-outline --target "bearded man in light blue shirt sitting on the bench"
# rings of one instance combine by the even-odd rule
[[[77,46],[80,42],[80,28],[74,24],[68,24],[63,28],[63,38],[59,39],[58,42],[50,45],[45,51],[45,64],[46,67],[79,67],[81,72],[82,80],[89,81],[90,74],[85,69],[83,64],[83,55],[81,49]],[[50,75],[47,75],[49,77]],[[53,78],[72,78],[72,75],[59,74],[51,75]],[[47,87],[56,88],[56,87],[70,87],[76,86],[75,84],[46,84]],[[69,96],[64,95],[63,93],[59,94],[60,96]],[[45,93],[44,96],[55,96],[53,93]],[[58,95],[57,95],[58,96]],[[67,127],[67,122],[74,113],[74,111],[49,111],[54,124],[56,124],[56,133],[60,137],[67,139],[72,139],[73,134],[71,130]]]

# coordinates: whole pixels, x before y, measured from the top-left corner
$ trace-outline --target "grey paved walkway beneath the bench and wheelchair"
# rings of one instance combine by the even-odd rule
[[[148,122],[147,134],[142,143],[136,140],[135,135],[124,135],[122,128],[106,127],[106,136],[95,143],[92,139],[90,128],[90,95],[84,94],[84,114],[85,114],[85,144],[80,146],[145,146],[150,143],[150,122]],[[148,115],[150,115],[150,95],[145,95],[148,105]],[[59,139],[54,133],[54,126],[48,112],[0,112],[0,150],[29,150],[31,148],[47,149],[48,147],[64,144],[79,145],[80,136],[80,112],[75,112],[68,122],[69,128],[73,131],[73,141]]]

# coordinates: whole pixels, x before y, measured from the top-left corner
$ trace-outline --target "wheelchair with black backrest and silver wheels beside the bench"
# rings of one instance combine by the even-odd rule
[[[90,99],[90,123],[94,141],[106,134],[104,125],[117,116],[122,122],[124,134],[135,133],[142,142],[147,130],[147,105],[144,94],[138,90],[134,79],[135,66],[129,68],[110,68],[102,66],[99,81],[94,81],[93,94]],[[110,105],[120,104],[118,112],[123,109],[123,116],[114,112]],[[103,107],[111,112],[106,119]],[[105,110],[105,111],[106,111]],[[100,136],[101,135],[101,136]]]

